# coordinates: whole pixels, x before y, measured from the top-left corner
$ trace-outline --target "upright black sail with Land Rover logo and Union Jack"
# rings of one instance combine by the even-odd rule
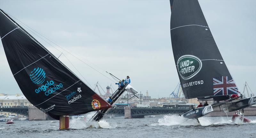
[[[170,0],[172,50],[187,99],[238,94],[197,0]]]

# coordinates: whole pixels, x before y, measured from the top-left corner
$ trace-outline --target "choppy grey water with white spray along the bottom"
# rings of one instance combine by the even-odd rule
[[[1,138],[255,138],[256,116],[247,117],[251,123],[235,125],[227,117],[202,117],[201,125],[178,115],[163,115],[154,118],[112,118],[86,123],[70,120],[69,130],[59,130],[59,121],[15,121],[14,124],[0,122]],[[231,117],[229,117],[231,120]],[[90,127],[91,126],[91,127]]]

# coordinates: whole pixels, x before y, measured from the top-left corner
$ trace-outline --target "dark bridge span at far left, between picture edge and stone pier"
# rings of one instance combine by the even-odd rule
[[[0,111],[28,116],[28,107],[2,107]]]

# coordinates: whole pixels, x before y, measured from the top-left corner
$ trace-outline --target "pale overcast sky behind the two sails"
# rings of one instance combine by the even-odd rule
[[[238,88],[243,91],[247,81],[255,93],[256,1],[200,0],[199,4]],[[169,97],[179,82],[171,46],[169,0],[0,0],[0,8],[104,75],[108,75],[104,71],[120,79],[129,75],[131,85],[143,94],[148,90],[153,98]],[[56,50],[35,34],[30,34],[59,57],[60,48],[54,45]],[[108,78],[67,52],[63,53],[92,87],[99,81],[104,90],[110,84],[117,88]],[[86,82],[65,56],[61,55],[59,59]],[[2,42],[0,92],[21,93],[12,76]]]

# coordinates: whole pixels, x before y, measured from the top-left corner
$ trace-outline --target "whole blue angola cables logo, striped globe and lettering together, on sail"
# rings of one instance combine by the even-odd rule
[[[45,82],[45,72],[42,68],[37,67],[29,75],[31,81],[35,84],[42,84],[40,87],[35,89],[36,93],[41,91],[44,92],[44,95],[49,96],[53,92],[63,87],[62,83],[56,84],[53,80]]]

